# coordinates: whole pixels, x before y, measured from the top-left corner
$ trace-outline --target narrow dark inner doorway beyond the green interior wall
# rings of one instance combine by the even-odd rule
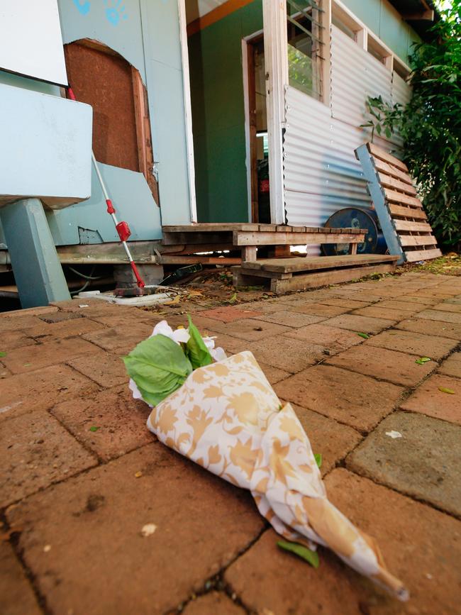
[[[264,38],[246,40],[248,132],[250,141],[251,221],[270,223],[269,144],[267,138]]]

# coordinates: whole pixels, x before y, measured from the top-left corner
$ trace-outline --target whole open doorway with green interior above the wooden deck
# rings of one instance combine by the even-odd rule
[[[206,10],[212,4],[218,6]],[[260,121],[262,100],[256,96],[256,87],[258,94],[265,92],[262,0],[191,0],[186,10],[197,221],[253,221],[260,216],[257,160],[264,160],[264,141],[267,151],[267,137],[263,136],[267,125]],[[249,38],[251,45],[247,45]],[[251,152],[250,108],[255,140]],[[267,190],[267,182],[262,189]],[[266,199],[268,202],[268,194]]]

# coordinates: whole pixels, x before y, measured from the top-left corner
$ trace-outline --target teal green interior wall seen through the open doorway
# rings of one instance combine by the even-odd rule
[[[189,38],[200,222],[248,221],[242,39],[260,30],[255,0]]]

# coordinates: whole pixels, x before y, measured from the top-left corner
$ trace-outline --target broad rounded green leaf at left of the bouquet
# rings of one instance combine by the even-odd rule
[[[162,335],[140,342],[123,362],[143,399],[152,406],[179,389],[192,372],[182,347]]]

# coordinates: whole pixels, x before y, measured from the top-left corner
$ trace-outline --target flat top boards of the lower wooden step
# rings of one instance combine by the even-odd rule
[[[357,267],[360,265],[374,265],[383,262],[396,262],[399,257],[389,254],[357,254],[340,256],[306,256],[290,258],[262,258],[243,262],[242,268],[258,272],[295,273],[303,271],[338,269],[340,267]],[[253,273],[253,275],[257,275]],[[262,274],[264,275],[264,274]]]

